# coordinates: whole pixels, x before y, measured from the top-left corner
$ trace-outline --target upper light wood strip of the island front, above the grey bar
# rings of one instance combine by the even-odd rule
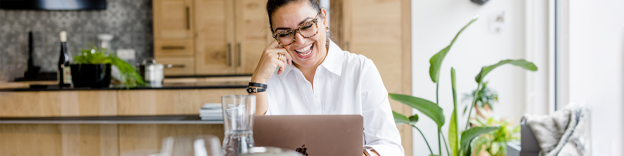
[[[221,95],[245,89],[143,89],[0,92],[0,117],[199,114]]]

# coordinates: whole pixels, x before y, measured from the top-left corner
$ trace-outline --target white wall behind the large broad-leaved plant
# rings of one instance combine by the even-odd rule
[[[452,112],[450,69],[456,69],[458,96],[474,90],[474,77],[483,66],[495,64],[504,59],[525,57],[525,2],[523,0],[491,0],[480,6],[469,0],[414,0],[412,1],[412,94],[416,97],[436,100],[436,86],[429,78],[429,59],[446,47],[464,24],[475,14],[480,19],[474,22],[457,39],[442,63],[440,75],[440,105],[447,116]],[[504,29],[490,33],[488,20],[490,12],[505,11]],[[546,68],[546,67],[539,67]],[[499,93],[499,104],[494,105],[495,114],[510,117],[516,124],[525,112],[525,71],[510,65],[501,66],[490,72],[485,80]],[[437,154],[436,124],[421,115],[417,126],[425,133],[427,141]],[[461,119],[464,127],[466,120]],[[444,134],[448,124],[442,127]],[[429,155],[429,149],[421,134],[414,130],[414,155]],[[448,137],[448,136],[446,136]],[[444,147],[442,147],[444,150]],[[446,155],[446,152],[443,152]]]

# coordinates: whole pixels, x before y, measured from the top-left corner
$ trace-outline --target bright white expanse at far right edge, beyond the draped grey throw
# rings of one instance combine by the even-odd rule
[[[570,0],[570,102],[593,105],[593,155],[624,155],[624,1]]]

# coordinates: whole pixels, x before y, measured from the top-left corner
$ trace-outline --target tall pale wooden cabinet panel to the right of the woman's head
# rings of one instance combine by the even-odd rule
[[[331,0],[330,30],[341,49],[362,54],[377,67],[389,93],[411,94],[411,25],[409,0]],[[392,110],[412,109],[390,100]],[[411,155],[412,128],[397,126],[401,144]]]

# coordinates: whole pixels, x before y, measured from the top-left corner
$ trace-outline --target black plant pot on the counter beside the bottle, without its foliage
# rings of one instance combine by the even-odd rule
[[[101,88],[110,85],[110,64],[72,64],[74,87]]]

